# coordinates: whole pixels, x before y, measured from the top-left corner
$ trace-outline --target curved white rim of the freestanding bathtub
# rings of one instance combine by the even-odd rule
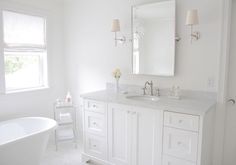
[[[8,140],[5,143],[0,142],[0,147],[3,147],[3,146],[5,146],[7,144],[10,144],[10,143],[16,143],[16,142],[20,141],[21,139],[25,139],[25,138],[28,138],[28,137],[31,137],[31,136],[34,136],[34,135],[37,135],[37,134],[45,133],[45,132],[50,131],[50,130],[53,131],[58,126],[57,122],[54,119],[47,118],[47,117],[21,117],[21,118],[15,118],[15,119],[10,119],[10,120],[0,122],[0,126],[3,125],[4,123],[8,123],[8,122],[16,121],[16,120],[20,120],[20,119],[46,120],[46,121],[49,121],[50,124],[49,124],[48,127],[46,127],[45,129],[41,129],[40,131],[35,131],[33,133],[26,134],[25,136],[20,136],[19,138],[15,138],[13,140]]]

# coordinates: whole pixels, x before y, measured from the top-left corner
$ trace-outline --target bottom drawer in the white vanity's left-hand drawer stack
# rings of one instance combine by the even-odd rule
[[[86,134],[85,152],[100,159],[107,159],[106,139],[100,136]]]

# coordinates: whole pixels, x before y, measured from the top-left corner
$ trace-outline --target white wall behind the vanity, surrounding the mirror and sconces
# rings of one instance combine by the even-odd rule
[[[216,91],[218,58],[220,55],[221,0],[177,0],[177,32],[182,40],[177,43],[176,76],[132,76],[131,44],[114,47],[110,32],[114,18],[121,21],[122,34],[130,37],[131,5],[146,0],[67,0],[65,9],[65,43],[68,86],[74,97],[81,93],[105,88],[113,82],[111,72],[120,68],[121,83],[143,85],[153,80],[159,87],[179,85],[183,89]],[[153,1],[152,1],[153,2]],[[201,39],[192,45],[189,28],[185,26],[187,9],[199,9]],[[208,87],[208,79],[215,81]]]

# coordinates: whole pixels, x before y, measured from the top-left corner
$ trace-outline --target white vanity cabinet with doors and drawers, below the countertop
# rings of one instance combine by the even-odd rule
[[[103,165],[212,165],[214,106],[178,107],[84,99],[84,162]],[[192,112],[192,111],[189,111]]]

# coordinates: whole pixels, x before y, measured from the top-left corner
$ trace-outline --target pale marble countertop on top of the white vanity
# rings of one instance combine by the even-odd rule
[[[109,90],[97,91],[81,95],[84,99],[103,101],[107,103],[118,103],[131,106],[139,106],[156,110],[168,110],[193,115],[205,115],[208,111],[214,109],[215,99],[209,98],[191,98],[182,97],[180,100],[170,99],[166,96],[160,96],[159,101],[138,101],[126,98],[135,94],[117,94]]]

